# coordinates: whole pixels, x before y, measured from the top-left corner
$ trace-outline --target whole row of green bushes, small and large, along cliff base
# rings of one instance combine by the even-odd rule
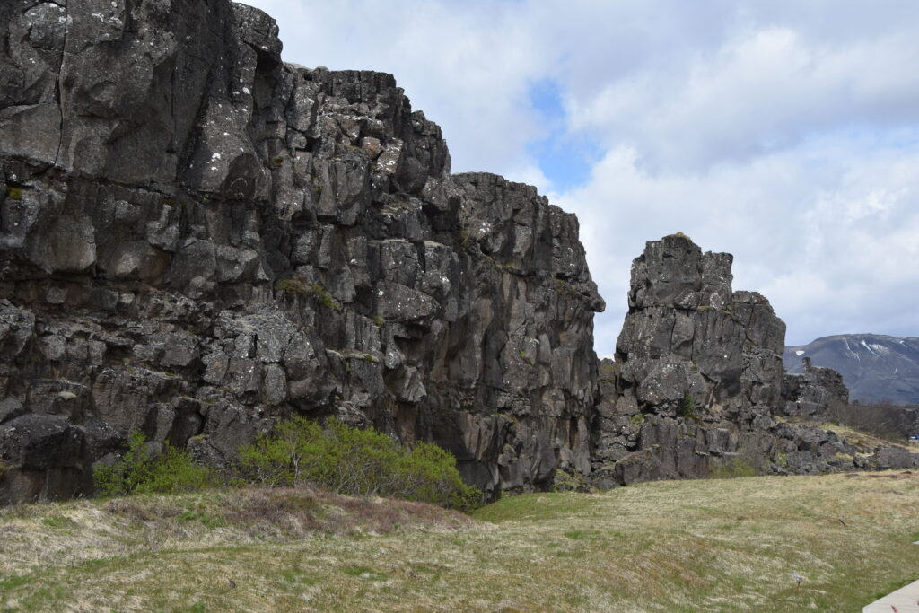
[[[239,471],[227,479],[168,443],[160,454],[142,433],[128,437],[118,461],[96,467],[96,490],[105,496],[177,494],[227,485],[310,486],[337,494],[391,496],[462,510],[482,501],[463,482],[456,458],[433,443],[403,447],[372,428],[324,425],[295,415],[239,450]],[[155,447],[155,446],[154,446]]]

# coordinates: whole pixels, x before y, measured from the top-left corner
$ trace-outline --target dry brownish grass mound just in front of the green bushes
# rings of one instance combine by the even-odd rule
[[[310,489],[249,488],[21,505],[0,509],[0,578],[139,552],[471,524],[469,517],[434,505]]]

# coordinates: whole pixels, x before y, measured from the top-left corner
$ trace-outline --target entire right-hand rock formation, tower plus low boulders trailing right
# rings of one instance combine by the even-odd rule
[[[845,386],[826,370],[787,378],[785,324],[760,294],[732,290],[731,265],[731,255],[703,254],[680,234],[648,243],[633,262],[616,360],[600,367],[591,481],[919,466],[905,448],[863,453],[779,417],[805,403],[822,410]]]

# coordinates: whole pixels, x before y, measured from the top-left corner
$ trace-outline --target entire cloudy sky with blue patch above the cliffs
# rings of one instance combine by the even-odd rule
[[[919,2],[247,0],[286,62],[391,73],[453,172],[577,214],[613,353],[631,260],[734,255],[786,344],[919,336]]]

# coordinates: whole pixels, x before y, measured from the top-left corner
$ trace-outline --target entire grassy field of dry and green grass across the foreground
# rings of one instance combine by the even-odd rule
[[[528,494],[472,518],[137,496],[0,510],[0,610],[857,611],[919,579],[914,540],[914,471]]]

